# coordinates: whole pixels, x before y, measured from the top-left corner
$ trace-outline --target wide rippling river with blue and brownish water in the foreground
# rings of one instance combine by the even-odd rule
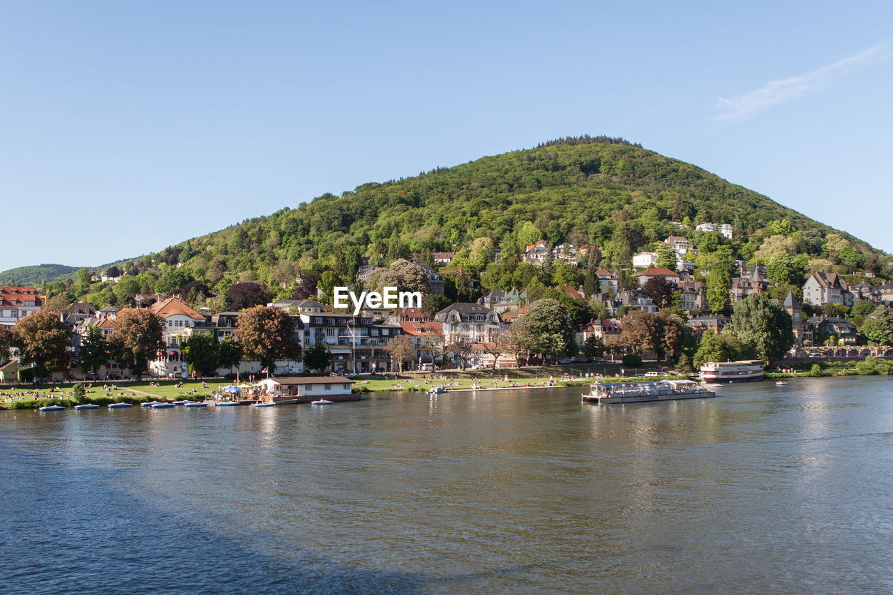
[[[0,411],[0,591],[893,592],[893,379]]]

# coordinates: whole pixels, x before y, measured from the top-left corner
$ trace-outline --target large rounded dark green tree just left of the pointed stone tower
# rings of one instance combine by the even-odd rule
[[[751,294],[735,302],[731,322],[744,348],[767,364],[783,357],[794,345],[790,314],[764,294]]]

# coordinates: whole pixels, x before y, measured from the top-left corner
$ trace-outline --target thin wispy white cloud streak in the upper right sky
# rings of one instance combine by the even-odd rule
[[[763,87],[748,91],[743,95],[726,99],[720,97],[714,107],[723,110],[714,116],[718,122],[728,120],[740,120],[759,112],[772,105],[780,104],[796,97],[805,96],[826,85],[848,71],[855,70],[865,63],[880,62],[887,59],[886,44],[880,44],[870,49],[851,55],[839,62],[822,66],[817,71],[808,74],[799,74],[783,80],[772,80]]]

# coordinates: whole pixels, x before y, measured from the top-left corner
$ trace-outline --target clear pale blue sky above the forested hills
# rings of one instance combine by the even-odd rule
[[[893,3],[0,4],[0,270],[621,136],[893,252]]]

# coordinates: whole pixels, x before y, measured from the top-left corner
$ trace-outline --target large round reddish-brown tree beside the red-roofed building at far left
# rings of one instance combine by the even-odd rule
[[[13,344],[19,348],[21,364],[33,364],[36,373],[67,367],[71,332],[58,312],[41,310],[22,318],[13,326]]]

